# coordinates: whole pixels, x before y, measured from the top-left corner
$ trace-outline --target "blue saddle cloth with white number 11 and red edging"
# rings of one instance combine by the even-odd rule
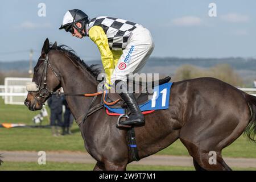
[[[142,93],[138,94],[137,103],[139,109],[141,109],[143,114],[151,113],[154,110],[168,109],[169,99],[171,93],[172,82],[167,82],[162,85],[157,85],[154,87],[154,92],[152,93]],[[105,100],[112,101],[111,97],[108,97],[106,93]],[[115,104],[113,106],[104,105],[106,107],[106,112],[109,115],[125,114],[125,109],[122,107],[123,103]],[[115,114],[114,114],[115,113]]]

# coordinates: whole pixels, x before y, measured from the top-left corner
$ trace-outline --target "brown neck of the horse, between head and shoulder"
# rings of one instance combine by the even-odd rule
[[[84,94],[97,92],[97,81],[89,72],[80,68],[76,75],[63,73],[61,86],[64,93]],[[75,119],[86,113],[92,97],[66,96],[66,100]]]

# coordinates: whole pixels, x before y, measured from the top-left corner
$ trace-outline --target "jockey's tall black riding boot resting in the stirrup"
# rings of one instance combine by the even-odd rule
[[[117,81],[119,82],[119,80]],[[117,84],[116,82],[116,84]],[[129,118],[125,121],[121,121],[121,125],[143,125],[144,124],[144,115],[142,114],[139,106],[135,100],[133,93],[128,93],[128,89],[126,84],[123,82],[122,88],[126,91],[125,93],[120,93],[123,101],[126,102],[127,106],[129,107],[131,114]]]

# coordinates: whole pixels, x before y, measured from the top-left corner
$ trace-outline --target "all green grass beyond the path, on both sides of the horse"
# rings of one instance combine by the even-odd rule
[[[32,125],[32,118],[40,111],[29,111],[24,105],[4,105],[0,99],[0,123],[26,123]],[[49,113],[49,112],[48,112]],[[44,119],[43,125],[47,125]],[[0,150],[6,151],[85,151],[79,127],[74,123],[73,135],[52,137],[50,129],[0,128]],[[256,144],[243,136],[223,150],[224,157],[256,158]],[[188,155],[180,140],[158,152],[159,155]]]

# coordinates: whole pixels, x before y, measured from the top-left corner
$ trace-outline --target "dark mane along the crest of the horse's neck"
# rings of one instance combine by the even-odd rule
[[[55,46],[55,44],[51,44],[50,47],[51,47],[50,48],[51,50],[57,50],[57,51],[63,52],[65,55],[70,57],[73,61],[80,63],[82,68],[88,71],[90,75],[92,75],[97,80],[98,75],[101,73],[101,69],[97,67],[98,64],[92,64],[88,66],[87,64],[85,64],[84,60],[81,60],[80,57],[77,56],[76,52],[68,46],[65,46],[65,45]]]

